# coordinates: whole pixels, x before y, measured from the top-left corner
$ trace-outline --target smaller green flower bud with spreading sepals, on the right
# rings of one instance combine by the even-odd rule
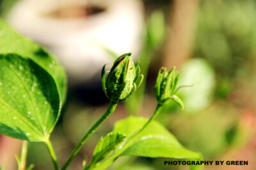
[[[157,103],[165,104],[167,101],[172,99],[175,101],[179,106],[183,109],[184,104],[182,103],[181,99],[176,96],[177,90],[177,83],[179,80],[179,73],[175,73],[175,67],[168,73],[165,67],[161,67],[159,70],[156,85],[155,85],[155,96]]]

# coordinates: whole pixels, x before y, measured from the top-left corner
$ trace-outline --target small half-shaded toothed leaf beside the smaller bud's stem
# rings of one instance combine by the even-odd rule
[[[123,134],[110,132],[104,138],[101,138],[93,152],[92,162],[97,163],[105,159],[108,155],[115,150],[116,146],[124,141]]]

